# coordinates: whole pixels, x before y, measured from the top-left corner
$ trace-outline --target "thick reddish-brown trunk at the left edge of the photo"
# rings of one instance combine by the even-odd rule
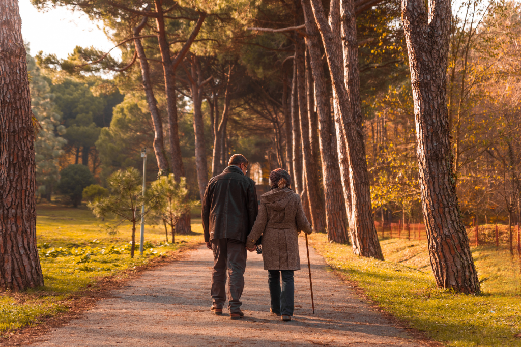
[[[34,128],[16,0],[0,2],[0,289],[43,286],[36,249]]]

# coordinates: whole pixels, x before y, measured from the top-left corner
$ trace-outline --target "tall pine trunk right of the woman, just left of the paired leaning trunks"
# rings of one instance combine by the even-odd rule
[[[320,53],[321,42],[309,0],[302,0],[306,23],[306,44],[315,81],[315,100],[318,114],[319,147],[322,159],[322,182],[326,201],[328,240],[349,243],[345,201],[338,164],[337,141],[329,108],[329,93]],[[312,127],[313,129],[313,127]],[[349,187],[348,187],[349,188]]]

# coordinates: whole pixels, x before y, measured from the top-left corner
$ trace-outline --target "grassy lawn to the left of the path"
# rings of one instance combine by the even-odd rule
[[[94,289],[107,277],[122,278],[154,258],[166,257],[183,247],[201,243],[201,220],[192,219],[190,235],[171,235],[166,243],[163,226],[145,225],[143,256],[139,254],[139,226],[135,257],[130,258],[131,225],[117,231],[96,219],[86,207],[40,204],[36,208],[36,238],[44,275],[42,288],[0,296],[0,333],[38,324],[44,317],[64,312],[70,299]]]

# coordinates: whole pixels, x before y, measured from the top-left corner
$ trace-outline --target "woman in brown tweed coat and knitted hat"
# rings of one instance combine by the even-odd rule
[[[290,189],[291,176],[276,169],[269,175],[271,190],[261,196],[259,214],[246,238],[246,247],[255,248],[262,235],[264,269],[268,270],[271,295],[270,312],[291,320],[293,315],[293,271],[300,270],[299,238],[301,231],[311,234],[300,196]],[[282,290],[280,277],[282,276]]]

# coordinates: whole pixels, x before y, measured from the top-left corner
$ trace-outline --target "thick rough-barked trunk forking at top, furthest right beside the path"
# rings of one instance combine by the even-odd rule
[[[452,173],[445,101],[450,0],[402,0],[413,86],[420,197],[430,263],[438,287],[479,293],[478,275],[460,215]]]

